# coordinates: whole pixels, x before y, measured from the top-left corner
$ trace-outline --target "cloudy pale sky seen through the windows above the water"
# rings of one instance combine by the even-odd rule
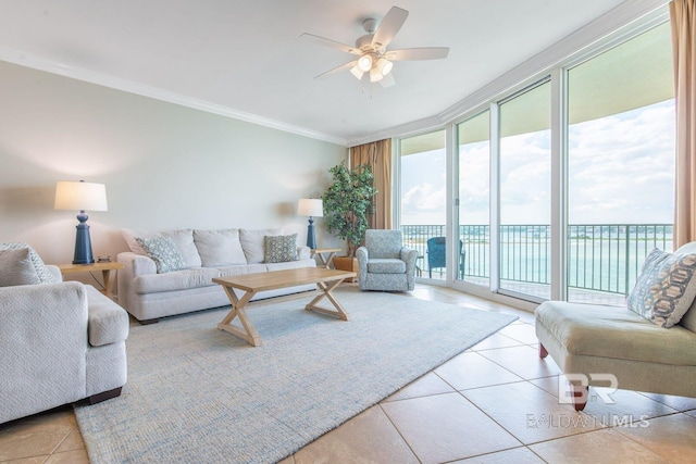
[[[673,100],[588,121],[569,130],[571,224],[671,224]],[[488,222],[488,146],[460,165],[462,224]],[[549,223],[548,134],[501,140],[501,220]],[[445,224],[445,150],[402,158],[401,224]]]

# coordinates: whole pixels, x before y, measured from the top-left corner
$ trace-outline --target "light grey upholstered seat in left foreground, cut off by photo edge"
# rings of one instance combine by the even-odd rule
[[[91,286],[61,281],[58,267],[45,269],[50,280],[0,287],[0,424],[114,398],[126,383],[126,312]]]

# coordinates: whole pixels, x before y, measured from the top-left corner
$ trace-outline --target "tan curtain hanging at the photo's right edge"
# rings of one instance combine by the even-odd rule
[[[695,0],[670,3],[674,97],[676,99],[676,173],[674,248],[696,240],[696,21]]]

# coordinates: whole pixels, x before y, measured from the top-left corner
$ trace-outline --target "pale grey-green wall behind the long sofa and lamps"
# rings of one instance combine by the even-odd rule
[[[297,200],[321,196],[346,156],[337,145],[0,62],[0,242],[26,241],[47,263],[73,260],[77,212],[53,210],[58,180],[107,186],[109,211],[87,212],[95,256],[125,251],[124,227],[285,227],[303,243]],[[344,247],[315,224],[320,246]]]

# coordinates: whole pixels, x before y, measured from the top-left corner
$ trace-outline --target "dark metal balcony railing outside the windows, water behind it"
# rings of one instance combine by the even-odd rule
[[[406,243],[418,250],[419,267],[427,271],[427,239],[444,237],[444,225],[401,226]],[[645,256],[652,250],[672,250],[671,224],[596,224],[568,226],[568,284],[570,288],[627,294]],[[458,276],[489,278],[490,228],[459,227],[462,253]],[[551,231],[548,225],[500,227],[500,279],[522,284],[550,284]],[[433,277],[443,277],[437,269]]]

